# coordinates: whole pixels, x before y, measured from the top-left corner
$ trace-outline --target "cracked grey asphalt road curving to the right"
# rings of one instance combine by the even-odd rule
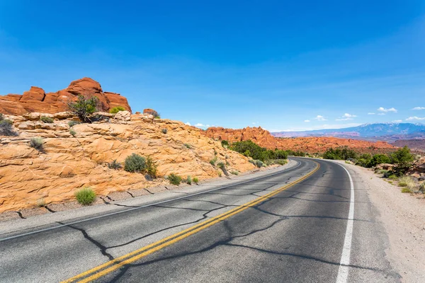
[[[179,200],[0,231],[0,282],[399,282],[363,183],[339,164],[293,159]]]

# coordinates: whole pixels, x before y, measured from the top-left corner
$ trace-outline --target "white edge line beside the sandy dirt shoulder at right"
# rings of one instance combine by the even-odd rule
[[[348,280],[348,265],[350,265],[350,255],[351,255],[351,241],[353,239],[353,222],[354,222],[354,185],[353,185],[353,178],[351,178],[350,173],[348,172],[347,168],[342,166],[339,163],[336,163],[348,174],[348,178],[350,179],[350,209],[348,211],[348,220],[347,220],[347,229],[346,229],[346,235],[344,239],[344,247],[342,248],[341,253],[341,261],[339,262],[339,270],[338,270],[338,276],[336,277],[336,283],[346,283]]]

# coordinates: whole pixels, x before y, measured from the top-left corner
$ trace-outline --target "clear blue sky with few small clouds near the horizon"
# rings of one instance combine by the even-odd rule
[[[425,2],[350,2],[0,0],[0,93],[89,76],[191,125],[425,122]]]

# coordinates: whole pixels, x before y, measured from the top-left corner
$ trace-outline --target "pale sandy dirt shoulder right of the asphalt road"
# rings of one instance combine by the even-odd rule
[[[358,173],[370,202],[378,210],[378,221],[387,231],[388,260],[402,282],[425,282],[425,198],[405,194],[367,168],[344,164]]]

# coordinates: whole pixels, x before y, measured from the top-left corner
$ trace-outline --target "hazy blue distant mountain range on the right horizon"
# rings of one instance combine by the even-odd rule
[[[274,137],[341,137],[397,141],[399,139],[425,139],[425,125],[420,123],[376,123],[343,129],[316,129],[302,132],[272,132]]]

